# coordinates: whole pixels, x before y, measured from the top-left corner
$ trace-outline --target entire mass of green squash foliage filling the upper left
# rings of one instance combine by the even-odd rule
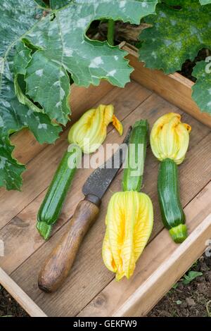
[[[91,22],[111,18],[139,24],[155,12],[157,3],[51,0],[51,11],[43,0],[1,0],[0,186],[20,189],[22,185],[25,166],[12,156],[13,132],[29,127],[40,143],[52,143],[61,130],[54,120],[67,123],[69,75],[86,87],[98,85],[102,78],[120,87],[129,82],[132,68],[124,59],[127,53],[88,39]],[[58,5],[65,7],[55,10]]]

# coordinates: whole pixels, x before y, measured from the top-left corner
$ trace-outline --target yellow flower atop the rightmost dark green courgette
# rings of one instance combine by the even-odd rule
[[[181,115],[168,113],[161,116],[151,131],[151,148],[159,161],[171,158],[175,163],[184,161],[189,144],[191,126],[181,123]]]

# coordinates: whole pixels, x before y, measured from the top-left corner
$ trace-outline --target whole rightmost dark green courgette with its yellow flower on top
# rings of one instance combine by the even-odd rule
[[[186,217],[179,197],[177,165],[184,161],[191,126],[181,123],[181,116],[168,113],[159,118],[151,131],[151,148],[160,161],[158,199],[162,222],[174,242],[187,237]]]

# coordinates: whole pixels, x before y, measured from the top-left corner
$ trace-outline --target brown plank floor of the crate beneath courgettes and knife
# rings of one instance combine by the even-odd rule
[[[98,96],[96,99],[94,99],[94,89],[91,91],[92,104],[88,101],[88,108],[99,103],[114,104],[115,113],[124,124],[124,132],[129,125],[140,118],[148,118],[152,126],[155,120],[164,113],[176,111],[183,115],[183,120],[192,126],[193,131],[186,161],[179,166],[181,202],[184,207],[188,208],[188,204],[192,200],[198,199],[196,198],[198,192],[210,181],[210,129],[136,82],[128,84],[124,90],[117,87],[108,88],[105,85],[103,86],[104,92],[96,92]],[[75,119],[77,112],[82,113],[82,111],[87,110],[87,94],[84,97],[85,99],[83,97],[74,99],[72,111],[76,110],[75,115],[73,115]],[[103,266],[101,245],[105,232],[104,219],[108,200],[113,192],[120,190],[121,173],[117,175],[115,182],[103,197],[101,214],[94,227],[89,231],[89,235],[84,239],[75,266],[65,285],[56,294],[44,294],[37,288],[37,274],[41,268],[41,263],[65,232],[77,202],[83,197],[82,184],[92,171],[90,169],[77,171],[63,212],[53,229],[53,237],[45,243],[35,230],[37,210],[60,161],[60,156],[68,147],[66,137],[67,132],[63,132],[55,145],[44,146],[40,150],[37,149],[37,145],[34,146],[34,151],[31,151],[30,157],[27,158],[28,170],[24,175],[23,192],[13,192],[12,194],[10,192],[8,196],[5,190],[0,190],[0,239],[5,242],[6,253],[4,258],[0,258],[1,267],[48,316],[75,316],[81,311],[82,314],[86,314],[88,308],[85,307],[89,307],[89,303],[98,297],[102,289],[109,288],[110,284],[113,285],[114,291],[118,291],[119,288],[116,287],[117,283],[113,282],[113,274]],[[122,137],[119,137],[110,126],[105,144],[120,143],[121,141]],[[17,149],[16,152],[21,153],[21,148],[19,151]],[[26,156],[23,156],[23,159],[26,159]],[[153,239],[159,233],[164,233],[166,236],[166,231],[162,231],[156,194],[158,161],[155,160],[150,148],[147,151],[145,169],[143,192],[151,196],[155,209],[155,225],[151,236]],[[148,246],[150,247],[151,244]],[[139,266],[138,264],[136,269],[138,274],[142,270]],[[130,285],[136,284],[134,280],[136,280],[136,275],[134,279],[127,282],[127,288],[130,290],[133,289]],[[120,284],[124,286],[125,281],[120,282]],[[112,307],[110,309],[112,310]]]

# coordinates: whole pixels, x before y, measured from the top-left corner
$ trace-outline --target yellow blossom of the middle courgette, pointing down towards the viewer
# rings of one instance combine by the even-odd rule
[[[153,228],[153,204],[144,193],[115,193],[108,204],[103,261],[116,280],[132,276]]]

